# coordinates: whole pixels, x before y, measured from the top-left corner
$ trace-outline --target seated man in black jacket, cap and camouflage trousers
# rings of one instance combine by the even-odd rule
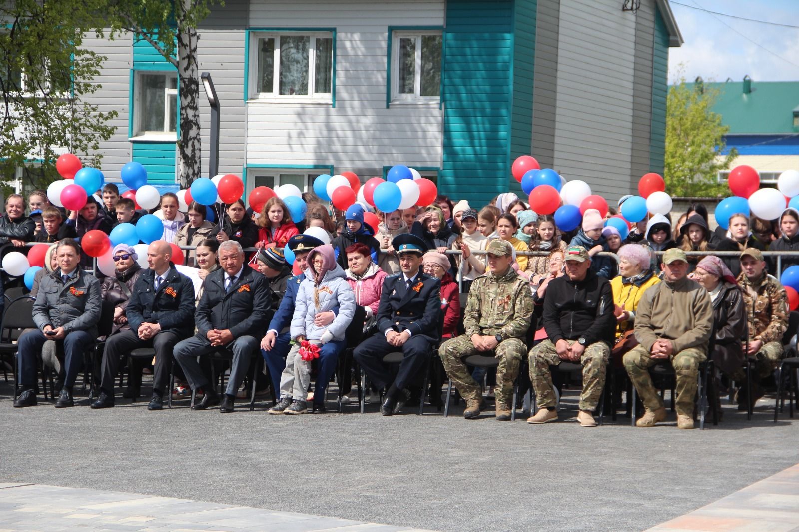
[[[548,339],[530,351],[530,380],[539,411],[527,423],[558,419],[551,366],[563,360],[582,364],[582,394],[577,420],[596,427],[592,412],[602,389],[616,318],[610,283],[590,270],[586,248],[571,246],[564,256],[566,275],[552,280],[544,296],[543,324]]]

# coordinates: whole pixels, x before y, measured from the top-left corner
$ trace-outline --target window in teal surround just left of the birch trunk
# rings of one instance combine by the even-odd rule
[[[177,133],[177,72],[136,73],[133,134],[174,136]]]

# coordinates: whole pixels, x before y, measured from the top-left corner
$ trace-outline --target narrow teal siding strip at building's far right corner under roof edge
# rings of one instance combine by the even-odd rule
[[[669,33],[660,11],[654,13],[652,60],[652,129],[650,130],[650,171],[663,173],[666,153],[666,91],[668,90]]]

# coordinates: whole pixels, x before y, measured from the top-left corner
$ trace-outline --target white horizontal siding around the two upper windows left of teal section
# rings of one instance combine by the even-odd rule
[[[438,105],[386,109],[386,54],[388,26],[443,26],[443,20],[443,0],[251,2],[252,28],[336,28],[336,108],[248,103],[248,164],[335,165],[362,179],[380,175],[383,165],[438,167],[442,111]],[[251,48],[250,61],[255,54]]]

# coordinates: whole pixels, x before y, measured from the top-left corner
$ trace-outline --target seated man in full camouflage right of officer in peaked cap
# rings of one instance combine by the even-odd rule
[[[496,239],[487,248],[489,271],[471,285],[463,317],[466,335],[448,339],[439,349],[444,369],[466,401],[463,417],[474,419],[480,414],[483,395],[471,378],[463,358],[494,355],[497,367],[496,419],[511,419],[513,383],[519,375],[519,363],[527,347],[524,337],[530,328],[533,297],[527,281],[511,268],[513,248],[505,240]]]

